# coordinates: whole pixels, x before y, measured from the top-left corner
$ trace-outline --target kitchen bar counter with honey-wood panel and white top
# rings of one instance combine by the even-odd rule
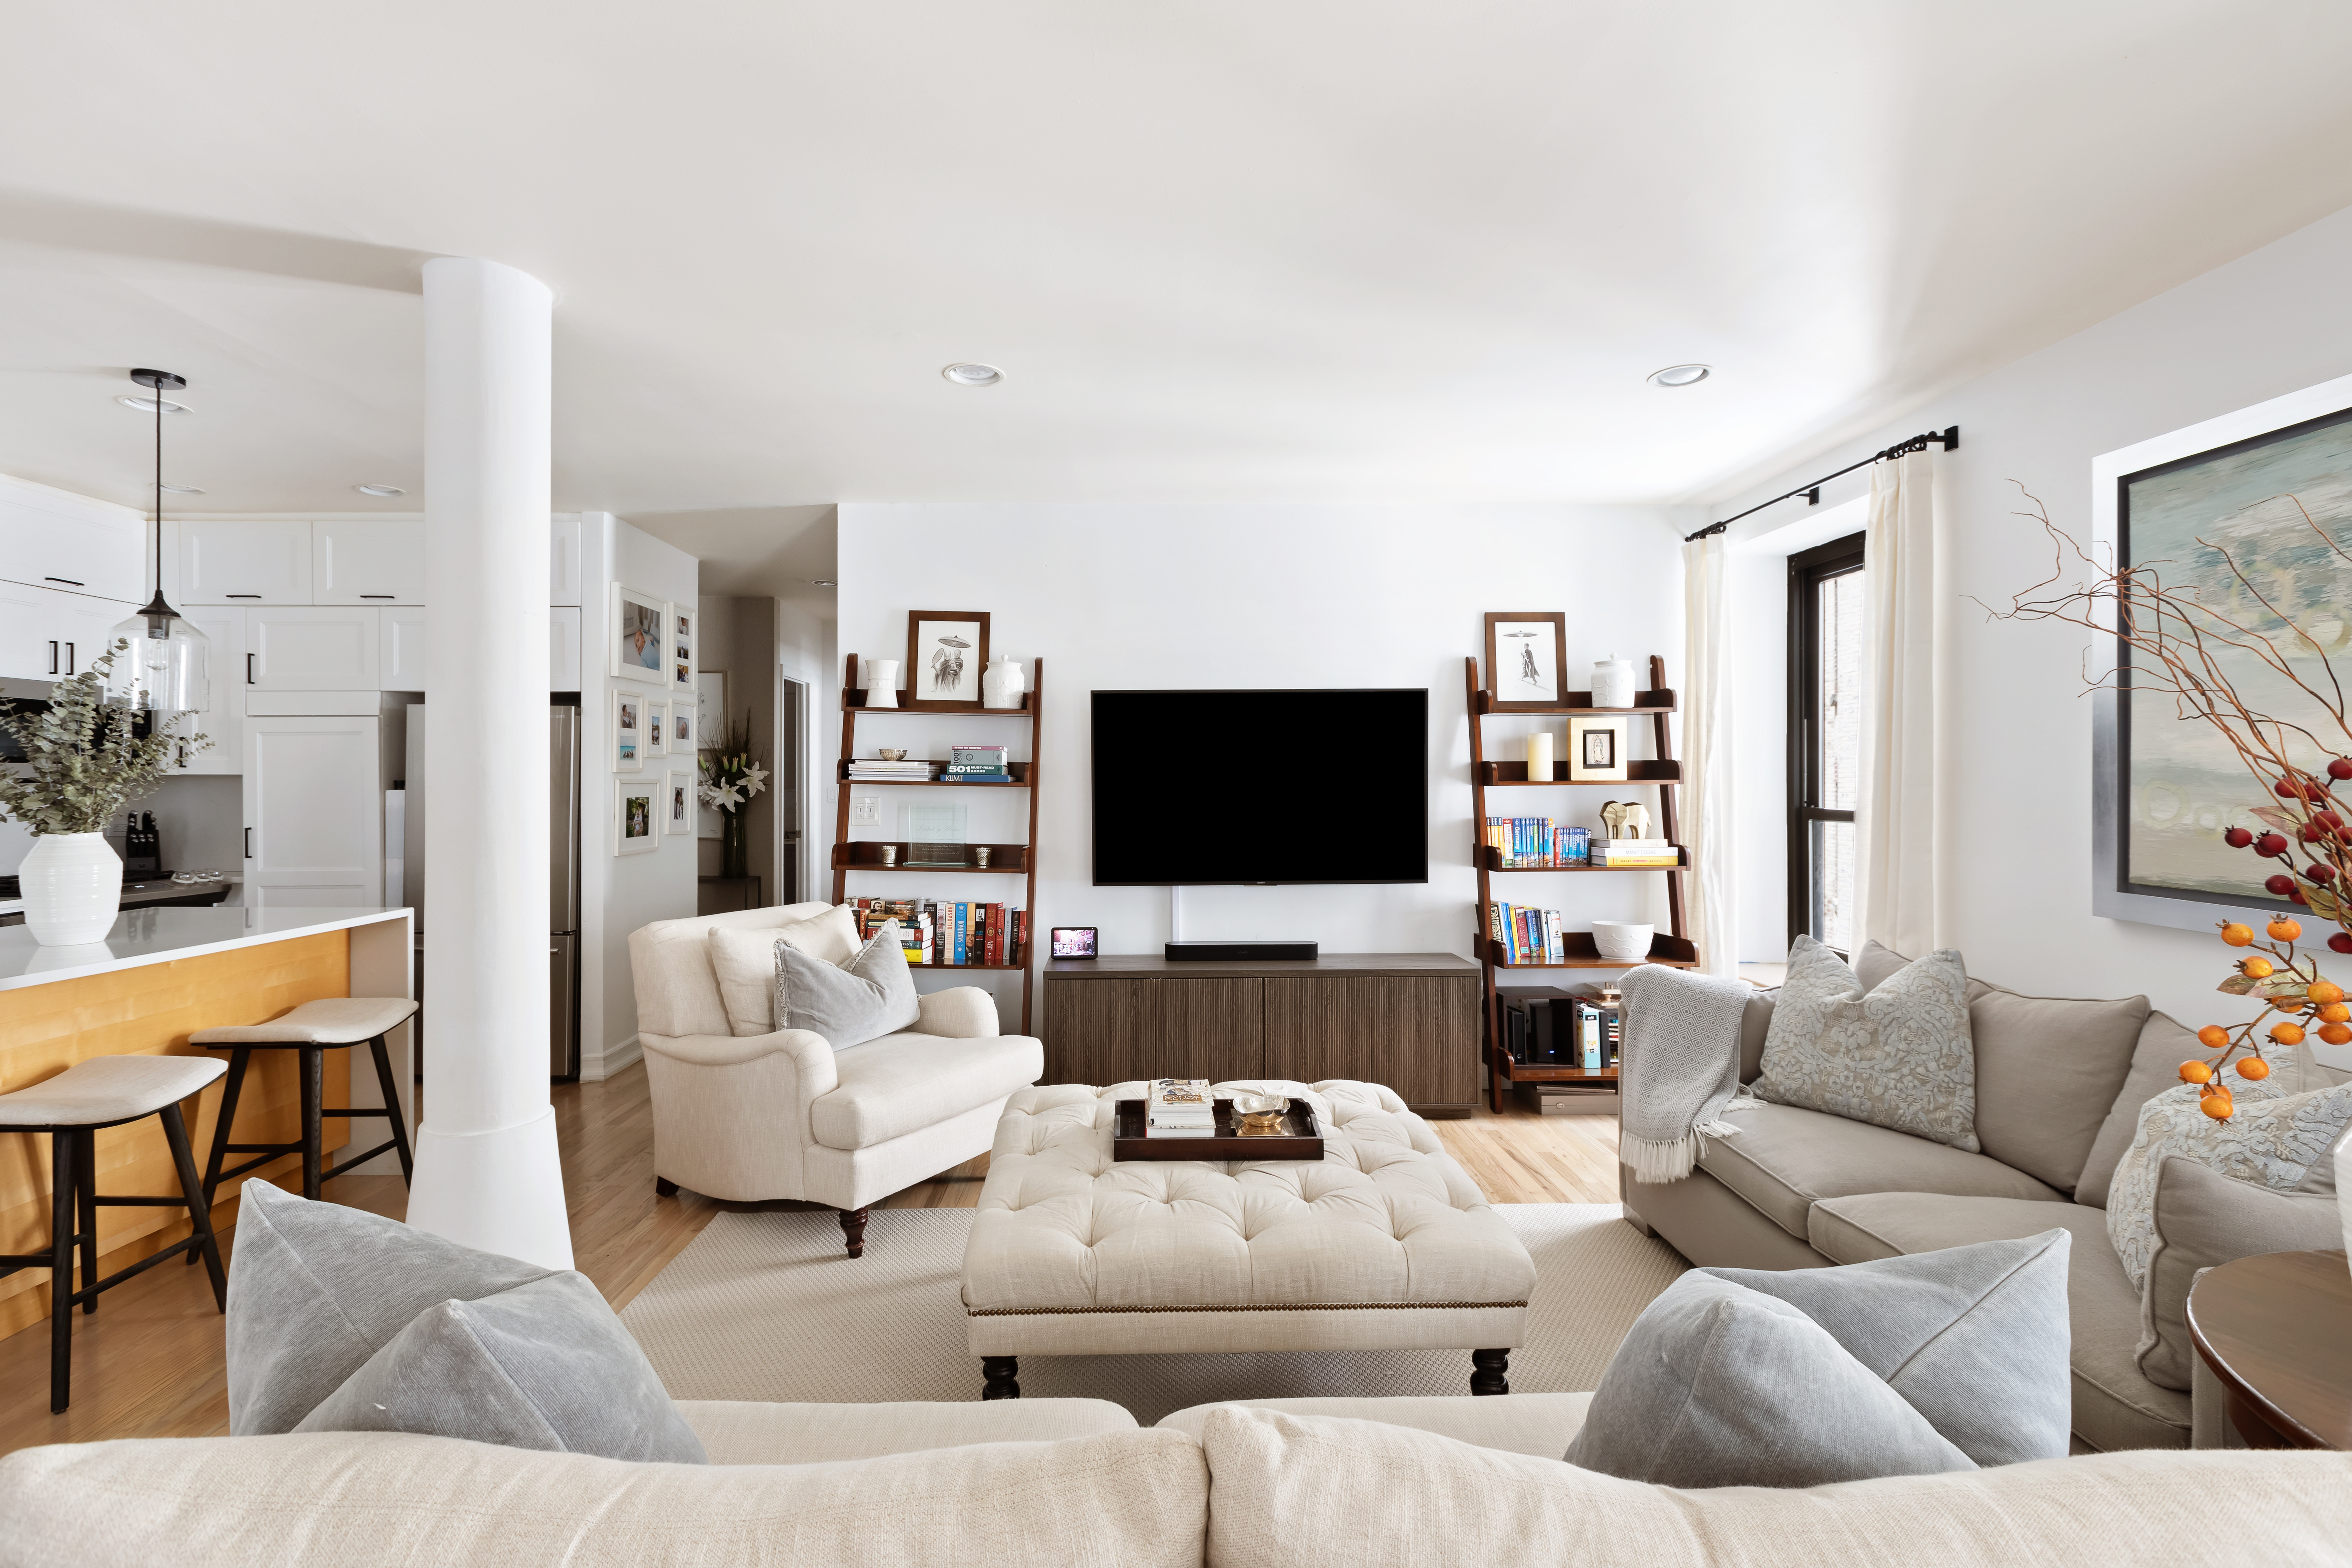
[[[409,997],[409,910],[129,910],[103,943],[42,947],[24,926],[0,929],[0,1093],[28,1088],[94,1056],[219,1056],[188,1044],[193,1030],[266,1023],[320,997]],[[414,1131],[414,1025],[386,1037],[402,1110]],[[343,1098],[353,1095],[353,1098]],[[362,1110],[383,1105],[374,1070],[350,1072],[350,1051],[327,1053],[325,1103]],[[221,1084],[186,1107],[198,1164],[212,1147]],[[369,1124],[374,1131],[381,1121]],[[238,1143],[289,1143],[301,1135],[301,1091],[292,1051],[256,1051],[238,1103]],[[99,1143],[99,1190],[176,1197],[179,1178],[155,1117],[106,1128]],[[350,1143],[350,1121],[329,1117],[325,1147]],[[390,1154],[362,1171],[400,1166]],[[252,1175],[294,1173],[287,1154]],[[235,1187],[221,1182],[214,1225],[235,1218]],[[99,1208],[99,1272],[113,1274],[188,1234],[176,1208]],[[0,1253],[49,1246],[49,1138],[0,1133]],[[174,1265],[162,1265],[174,1267]],[[49,1314],[49,1272],[0,1279],[0,1335]]]

